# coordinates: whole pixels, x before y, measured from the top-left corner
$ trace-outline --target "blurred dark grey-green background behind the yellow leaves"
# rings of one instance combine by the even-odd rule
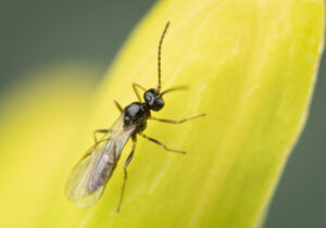
[[[47,65],[85,62],[97,68],[93,79],[99,81],[154,2],[2,0],[0,100],[16,84],[28,80],[26,72]],[[325,73],[324,56],[306,126],[288,161],[265,228],[326,227]]]

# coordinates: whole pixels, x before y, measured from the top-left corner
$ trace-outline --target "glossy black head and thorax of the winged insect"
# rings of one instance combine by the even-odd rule
[[[124,127],[137,125],[135,134],[146,129],[151,111],[160,111],[164,106],[164,101],[156,89],[147,90],[143,100],[145,102],[133,102],[124,109]]]

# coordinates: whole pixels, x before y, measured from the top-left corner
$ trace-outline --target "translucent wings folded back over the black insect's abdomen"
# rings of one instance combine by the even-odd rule
[[[110,138],[90,150],[70,175],[65,193],[79,207],[90,206],[100,199],[121,151],[134,134],[136,126],[124,129],[123,113],[110,129]]]

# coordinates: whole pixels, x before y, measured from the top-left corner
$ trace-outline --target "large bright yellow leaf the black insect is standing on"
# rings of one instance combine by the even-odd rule
[[[166,21],[163,89],[156,117],[206,116],[181,125],[149,121],[146,134],[187,155],[139,139],[128,172],[125,201],[115,213],[127,144],[102,199],[92,207],[68,202],[65,178],[110,127],[123,105],[136,100],[131,83],[156,86],[156,48]],[[261,225],[286,160],[303,127],[323,48],[322,0],[161,1],[139,24],[102,81],[92,114],[67,145],[37,227],[256,227]],[[50,159],[50,157],[49,157]]]

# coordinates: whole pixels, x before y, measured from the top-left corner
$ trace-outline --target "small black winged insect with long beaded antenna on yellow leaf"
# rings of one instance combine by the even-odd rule
[[[114,101],[122,114],[110,129],[99,129],[93,132],[95,144],[88,150],[85,156],[72,170],[66,185],[65,193],[67,198],[72,201],[75,201],[79,207],[90,206],[100,199],[108,180],[113,174],[122,149],[129,138],[131,138],[133,140],[133,150],[124,166],[125,177],[120,202],[116,208],[117,212],[120,211],[123,201],[127,180],[127,166],[135,153],[137,136],[141,136],[163,147],[166,151],[186,153],[185,151],[170,149],[163,142],[143,135],[142,131],[146,129],[148,119],[165,122],[170,124],[179,124],[200,116],[204,116],[204,114],[201,114],[189,118],[184,118],[181,121],[173,121],[155,118],[151,115],[152,111],[158,112],[164,106],[163,96],[165,93],[181,88],[175,87],[161,92],[161,47],[168,25],[170,22],[167,22],[159,43],[158,88],[151,88],[147,90],[138,84],[133,84],[134,91],[139,100],[138,102],[134,102],[123,109],[116,101]],[[139,89],[145,91],[143,101],[139,93]],[[97,138],[97,134],[103,134],[101,139]]]

